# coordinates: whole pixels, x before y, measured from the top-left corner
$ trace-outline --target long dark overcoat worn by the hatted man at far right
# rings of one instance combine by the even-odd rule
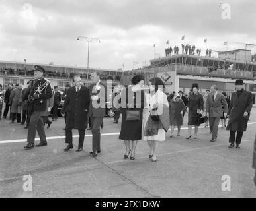
[[[251,92],[242,90],[238,96],[237,92],[233,92],[228,109],[229,121],[227,130],[230,131],[246,131],[247,123],[253,107],[253,95]],[[247,117],[243,117],[243,113],[249,113]]]

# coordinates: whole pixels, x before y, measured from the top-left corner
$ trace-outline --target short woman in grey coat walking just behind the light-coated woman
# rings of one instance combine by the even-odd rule
[[[170,113],[170,125],[171,125],[171,136],[173,137],[174,127],[178,127],[178,134],[180,136],[181,125],[183,125],[183,116],[186,112],[186,107],[181,100],[181,96],[179,94],[175,94],[174,98],[169,103],[169,113]]]

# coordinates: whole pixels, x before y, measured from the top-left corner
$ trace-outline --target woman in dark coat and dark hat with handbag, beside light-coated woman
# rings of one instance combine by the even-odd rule
[[[142,139],[142,113],[144,108],[144,91],[142,90],[143,85],[144,76],[138,74],[132,78],[132,86],[124,88],[121,92],[122,125],[119,139],[124,140],[124,144],[126,146],[124,159],[128,158],[130,152],[130,159],[135,159],[137,142],[138,140]],[[130,113],[129,111],[137,112],[139,114],[138,119],[140,120],[128,121],[126,117],[129,117],[127,116],[127,113]],[[132,144],[132,149],[130,149],[130,144]]]

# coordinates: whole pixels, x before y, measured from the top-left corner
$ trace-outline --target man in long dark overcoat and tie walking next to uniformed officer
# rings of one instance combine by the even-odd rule
[[[75,86],[67,90],[67,96],[62,106],[62,113],[67,111],[64,151],[73,148],[72,129],[79,131],[79,144],[76,152],[83,150],[85,129],[87,128],[87,113],[90,105],[89,89],[82,85],[79,75],[73,77]]]

